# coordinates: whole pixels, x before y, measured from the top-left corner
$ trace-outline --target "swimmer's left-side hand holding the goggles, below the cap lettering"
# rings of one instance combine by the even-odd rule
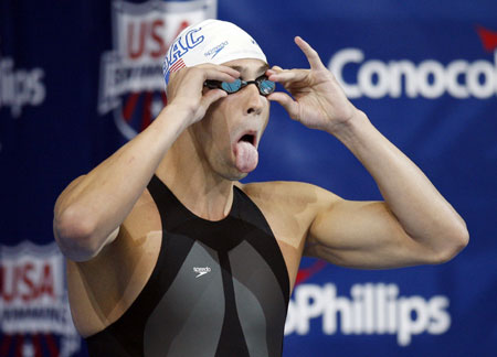
[[[187,110],[189,125],[200,121],[207,109],[228,94],[222,89],[204,89],[208,79],[233,82],[240,73],[231,67],[214,64],[201,64],[186,67],[171,74],[168,87],[168,106]]]

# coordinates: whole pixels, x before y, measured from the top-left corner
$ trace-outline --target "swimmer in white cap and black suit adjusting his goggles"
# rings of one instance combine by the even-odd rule
[[[464,220],[423,172],[295,43],[309,68],[269,66],[229,22],[186,29],[165,60],[168,106],[60,195],[54,235],[91,356],[281,356],[303,256],[387,269],[442,263],[467,245]],[[383,201],[240,183],[257,166],[272,102],[341,141]]]

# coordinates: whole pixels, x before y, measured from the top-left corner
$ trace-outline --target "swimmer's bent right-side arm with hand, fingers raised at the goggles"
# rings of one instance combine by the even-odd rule
[[[268,71],[292,94],[274,93],[289,116],[340,140],[374,178],[384,202],[329,199],[309,228],[306,253],[341,266],[391,268],[437,263],[468,241],[466,225],[423,172],[346,98],[318,54],[297,45],[310,69]]]

